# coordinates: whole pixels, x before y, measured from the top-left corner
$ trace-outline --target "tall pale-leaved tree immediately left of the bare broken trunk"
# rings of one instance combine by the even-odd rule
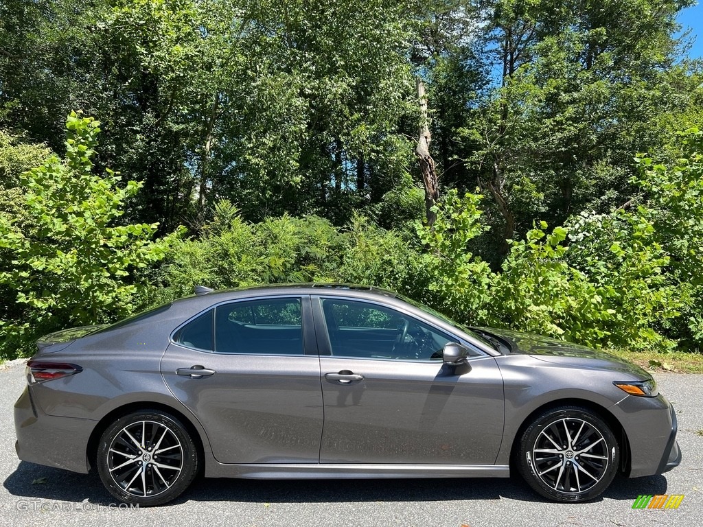
[[[415,112],[403,6],[239,8],[212,194],[250,220],[288,212],[342,225],[402,181],[412,160],[412,141],[399,131]]]

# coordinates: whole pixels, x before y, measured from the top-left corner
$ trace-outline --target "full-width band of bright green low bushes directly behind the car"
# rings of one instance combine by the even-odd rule
[[[673,167],[638,158],[636,204],[581,213],[551,231],[534,223],[524,240],[508,241],[507,258],[492,271],[468,249],[488,230],[482,196],[456,190],[434,208],[434,225],[417,222],[415,233],[360,214],[341,229],[317,216],[247,223],[222,201],[200,239],[154,244],[155,225],[114,226],[138,186],[120,190],[114,174],[90,174],[96,122],[72,115],[67,126],[66,159],[52,157],[25,176],[31,221],[0,221],[0,247],[17,262],[0,284],[15,288],[23,310],[14,318],[22,323],[6,322],[5,350],[10,339],[22,344],[49,327],[120,314],[128,299],[146,307],[198,284],[312,281],[388,287],[470,325],[592,346],[669,350],[680,335],[692,346],[703,339],[699,131],[681,136]],[[135,280],[150,286],[135,295]]]

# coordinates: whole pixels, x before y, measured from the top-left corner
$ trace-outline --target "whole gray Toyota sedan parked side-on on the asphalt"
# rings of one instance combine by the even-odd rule
[[[467,328],[375,287],[199,287],[41,339],[15,403],[21,460],[96,469],[160,505],[236,478],[508,477],[591,500],[676,467],[676,415],[640,367]]]

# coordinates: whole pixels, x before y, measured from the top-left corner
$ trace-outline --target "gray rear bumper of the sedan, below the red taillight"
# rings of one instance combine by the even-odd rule
[[[15,403],[15,450],[22,461],[86,474],[88,441],[97,422],[46,415],[28,387]]]

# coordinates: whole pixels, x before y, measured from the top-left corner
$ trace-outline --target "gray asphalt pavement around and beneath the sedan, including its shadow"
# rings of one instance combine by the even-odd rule
[[[510,479],[254,481],[199,479],[163,507],[125,509],[96,475],[20,462],[13,405],[22,363],[0,365],[0,526],[691,526],[703,524],[703,375],[655,375],[678,413],[683,462],[618,478],[590,503],[556,504]],[[684,495],[678,509],[633,509],[640,494]]]

